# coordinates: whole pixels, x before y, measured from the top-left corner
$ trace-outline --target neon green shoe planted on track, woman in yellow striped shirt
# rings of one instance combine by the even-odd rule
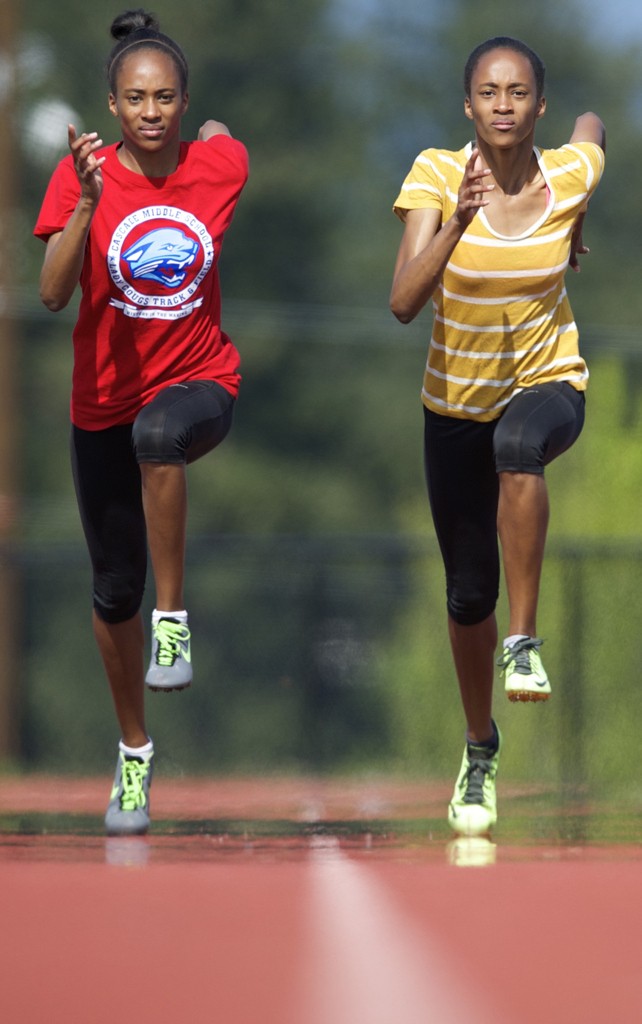
[[[497,821],[495,777],[501,749],[499,729],[497,750],[490,757],[488,748],[470,742],[464,748],[455,793],[448,807],[449,824],[459,836],[486,836]]]

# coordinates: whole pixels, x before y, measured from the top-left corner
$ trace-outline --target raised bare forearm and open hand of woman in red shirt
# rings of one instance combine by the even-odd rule
[[[45,261],[40,274],[40,297],[48,309],[58,312],[74,294],[78,285],[85,246],[91,221],[102,191],[100,165],[104,157],[96,159],[94,151],[102,145],[96,132],[76,138],[76,129],[70,125],[70,148],[74,155],[76,173],[81,184],[78,205],[64,226],[47,242]]]

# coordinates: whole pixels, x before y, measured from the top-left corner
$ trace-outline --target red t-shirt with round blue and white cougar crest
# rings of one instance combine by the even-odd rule
[[[91,223],[74,329],[72,421],[84,430],[132,423],[169,384],[219,381],[238,393],[239,356],[221,331],[217,261],[247,180],[229,135],[181,142],[178,168],[147,178],[100,155],[103,189]],[[81,187],[70,155],[49,182],[34,233],[47,241]]]

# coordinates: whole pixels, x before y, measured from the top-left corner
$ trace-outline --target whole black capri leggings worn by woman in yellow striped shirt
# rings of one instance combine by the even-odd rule
[[[482,623],[497,604],[497,474],[544,473],[580,436],[584,402],[584,392],[556,382],[520,391],[490,423],[424,408],[428,497],[456,623]]]

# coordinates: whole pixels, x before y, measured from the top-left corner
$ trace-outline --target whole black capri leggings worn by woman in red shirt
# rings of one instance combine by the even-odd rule
[[[189,463],[220,444],[234,398],[216,381],[172,384],[133,423],[106,430],[72,427],[72,470],[93,567],[94,608],[106,623],[139,610],[147,534],[139,463]]]

